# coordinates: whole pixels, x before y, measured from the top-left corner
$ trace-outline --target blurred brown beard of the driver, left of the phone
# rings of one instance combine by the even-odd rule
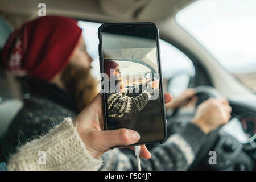
[[[64,90],[75,99],[77,111],[84,109],[97,95],[97,81],[90,75],[90,68],[69,63],[61,73]]]

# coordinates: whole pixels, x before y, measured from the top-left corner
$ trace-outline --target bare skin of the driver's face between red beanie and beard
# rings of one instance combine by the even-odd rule
[[[93,59],[86,51],[85,42],[81,35],[71,55],[70,63],[73,63],[80,67],[90,68],[90,63],[92,63],[92,61]]]

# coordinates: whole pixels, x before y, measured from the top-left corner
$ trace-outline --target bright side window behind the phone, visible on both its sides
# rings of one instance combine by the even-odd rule
[[[101,23],[79,21],[86,51],[92,57],[92,75],[100,80],[100,65],[98,64],[98,27]],[[163,76],[164,92],[170,92],[174,97],[179,96],[195,76],[192,61],[176,47],[160,39],[160,59]]]

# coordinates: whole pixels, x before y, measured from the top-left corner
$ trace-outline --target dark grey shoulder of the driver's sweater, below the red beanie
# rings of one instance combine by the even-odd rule
[[[43,80],[30,82],[30,97],[23,100],[22,109],[0,137],[0,161],[8,163],[9,155],[14,154],[17,147],[46,135],[64,118],[76,117],[75,101],[63,90]]]

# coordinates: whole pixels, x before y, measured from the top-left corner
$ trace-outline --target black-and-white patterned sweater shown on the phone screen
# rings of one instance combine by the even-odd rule
[[[109,94],[107,98],[108,115],[109,117],[121,118],[123,114],[139,113],[146,106],[150,97],[151,95],[147,90],[136,97],[129,97],[122,93]]]

